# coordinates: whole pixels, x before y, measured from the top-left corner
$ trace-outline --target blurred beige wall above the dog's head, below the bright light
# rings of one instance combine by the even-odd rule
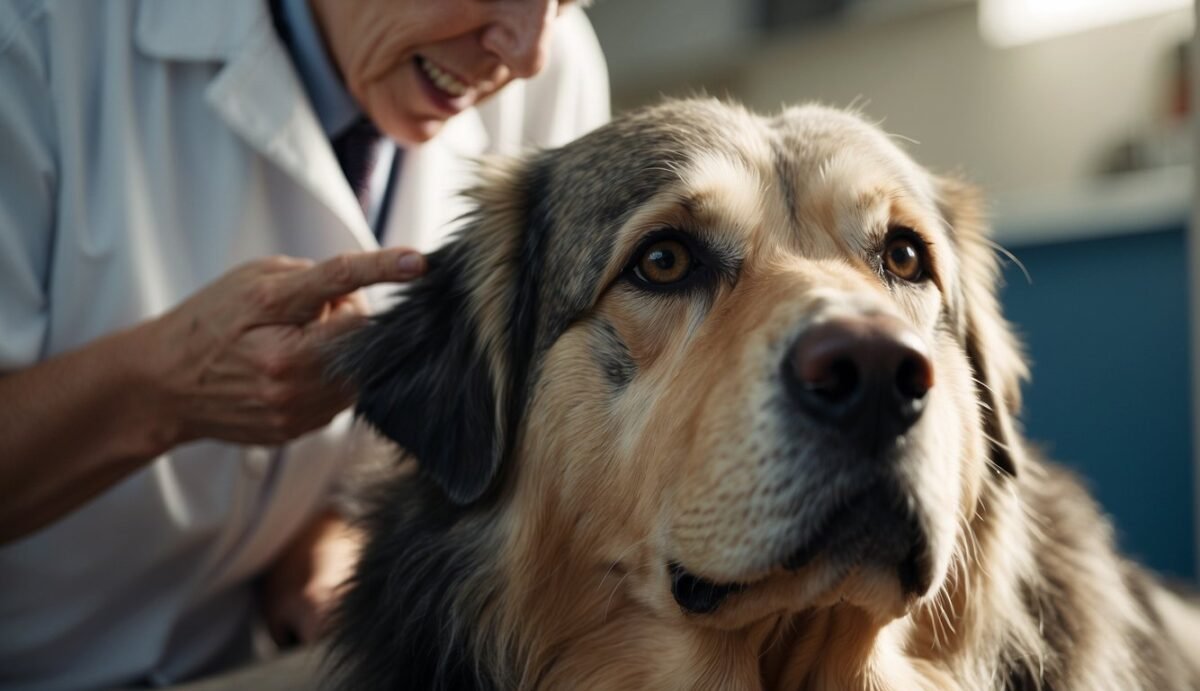
[[[1115,139],[1153,120],[1169,50],[1192,24],[1180,11],[996,49],[966,5],[756,40],[719,30],[738,26],[737,2],[691,1],[691,12],[677,0],[592,10],[618,107],[701,89],[762,110],[858,102],[919,142],[912,151],[923,163],[1002,196],[1072,185]],[[655,47],[638,47],[647,41]]]

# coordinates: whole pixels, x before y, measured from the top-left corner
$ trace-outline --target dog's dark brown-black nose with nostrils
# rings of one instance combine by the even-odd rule
[[[926,353],[917,332],[895,317],[842,317],[802,334],[784,375],[811,417],[876,449],[920,417],[934,385]]]

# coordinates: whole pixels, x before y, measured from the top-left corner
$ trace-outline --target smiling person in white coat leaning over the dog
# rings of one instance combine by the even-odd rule
[[[557,0],[0,5],[0,689],[226,669],[259,609],[319,637],[358,547],[323,348],[472,157],[607,115]]]

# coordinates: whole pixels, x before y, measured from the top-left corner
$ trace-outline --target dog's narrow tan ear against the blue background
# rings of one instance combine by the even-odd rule
[[[1000,312],[1000,265],[988,238],[980,194],[953,179],[938,180],[942,215],[959,257],[959,328],[983,402],[984,431],[996,469],[1015,476],[1024,452],[1016,431],[1021,381],[1030,369],[1012,326]]]

